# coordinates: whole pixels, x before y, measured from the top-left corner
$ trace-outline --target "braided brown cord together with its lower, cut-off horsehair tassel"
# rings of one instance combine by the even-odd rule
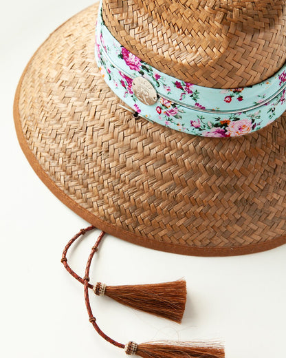
[[[98,238],[96,244],[91,249],[91,253],[87,260],[87,266],[85,268],[85,278],[83,280],[84,284],[84,293],[85,293],[85,305],[87,307],[87,313],[89,315],[89,322],[94,326],[96,332],[104,338],[109,343],[113,344],[118,348],[123,348],[127,355],[140,355],[143,358],[223,358],[224,350],[222,346],[215,344],[200,344],[199,343],[178,343],[175,342],[162,342],[162,343],[143,343],[136,344],[133,341],[130,341],[128,344],[122,344],[118,341],[115,341],[108,335],[102,332],[96,323],[96,318],[94,317],[90,302],[89,302],[89,271],[91,266],[92,258],[98,250],[98,245],[100,244],[102,237]]]

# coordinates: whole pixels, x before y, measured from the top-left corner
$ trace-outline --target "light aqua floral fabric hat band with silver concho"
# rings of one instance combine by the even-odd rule
[[[230,137],[272,123],[286,110],[286,65],[250,87],[217,89],[164,74],[124,48],[98,12],[96,61],[104,81],[139,116],[188,134]]]

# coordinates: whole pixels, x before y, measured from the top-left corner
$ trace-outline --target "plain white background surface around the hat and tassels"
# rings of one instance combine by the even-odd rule
[[[61,253],[87,222],[67,209],[32,171],[17,143],[12,103],[33,52],[90,0],[5,1],[1,6],[1,294],[0,356],[116,358],[124,352],[88,321],[83,287],[63,268]],[[71,251],[83,275],[91,233]],[[91,297],[98,324],[122,343],[218,338],[227,358],[285,357],[286,245],[239,257],[188,257],[152,251],[107,235],[91,277],[107,284],[186,277],[181,325]]]

